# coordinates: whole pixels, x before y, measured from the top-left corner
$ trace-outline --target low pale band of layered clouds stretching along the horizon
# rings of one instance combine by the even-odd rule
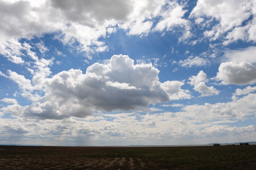
[[[238,127],[222,124],[253,118],[255,97],[255,94],[249,94],[228,103],[185,106],[183,111],[176,113],[98,113],[86,118],[70,117],[61,120],[17,118],[6,121],[0,118],[0,128],[3,131],[0,135],[7,137],[8,134],[19,134],[19,138],[22,138],[25,134],[27,141],[22,138],[23,144],[29,144],[32,136],[34,143],[44,142],[47,145],[154,145],[155,142],[163,145],[171,142],[178,145],[184,139],[189,139],[190,144],[206,144],[216,138],[221,141],[224,137],[230,137],[232,140],[227,141],[225,138],[223,143],[240,141],[240,138],[250,141],[255,136],[254,125]],[[7,108],[12,109],[12,113],[16,112],[18,117],[21,110],[19,107],[21,106],[17,104],[8,106],[2,109],[2,112],[7,113]],[[50,140],[53,138],[57,140]]]

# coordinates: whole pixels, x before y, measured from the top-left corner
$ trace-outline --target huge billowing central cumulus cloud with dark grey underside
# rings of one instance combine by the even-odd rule
[[[159,70],[152,64],[137,64],[129,56],[115,55],[108,64],[95,63],[86,74],[81,70],[62,71],[34,84],[43,88],[44,96],[31,105],[9,105],[5,113],[24,114],[42,119],[86,117],[95,110],[130,110],[138,106],[190,98],[183,82],[161,83]]]

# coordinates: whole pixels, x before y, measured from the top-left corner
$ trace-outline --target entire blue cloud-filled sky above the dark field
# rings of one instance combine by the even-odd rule
[[[0,143],[256,141],[254,0],[0,0]]]

